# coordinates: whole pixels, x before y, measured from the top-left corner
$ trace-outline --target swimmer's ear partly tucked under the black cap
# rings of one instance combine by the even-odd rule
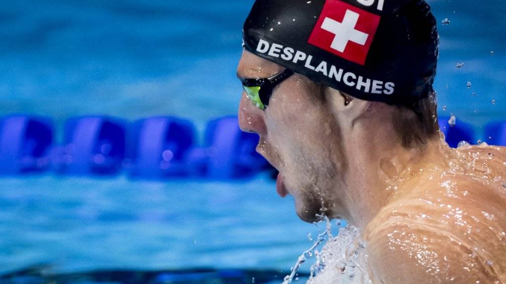
[[[338,121],[349,127],[353,126],[355,120],[362,116],[372,104],[372,102],[353,98],[330,87],[325,89],[325,99]]]

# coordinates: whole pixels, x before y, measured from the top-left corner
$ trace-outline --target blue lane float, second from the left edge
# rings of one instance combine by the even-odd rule
[[[125,123],[106,116],[71,118],[65,124],[63,152],[63,173],[115,174],[125,157]]]

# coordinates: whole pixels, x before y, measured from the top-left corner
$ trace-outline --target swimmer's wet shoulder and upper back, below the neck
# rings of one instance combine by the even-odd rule
[[[364,231],[378,283],[506,281],[506,148],[441,147],[440,163],[404,173]]]

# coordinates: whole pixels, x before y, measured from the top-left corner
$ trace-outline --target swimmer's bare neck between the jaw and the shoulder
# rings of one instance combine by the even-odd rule
[[[389,203],[401,181],[407,182],[421,169],[437,163],[446,148],[439,138],[428,140],[422,148],[406,149],[400,143],[385,143],[388,138],[378,136],[377,131],[367,133],[369,137],[360,137],[362,143],[355,140],[346,147],[346,153],[353,155],[344,176],[345,217],[359,228]]]

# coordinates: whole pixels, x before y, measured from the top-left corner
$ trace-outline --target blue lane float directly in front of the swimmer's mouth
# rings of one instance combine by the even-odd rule
[[[193,149],[188,169],[193,176],[230,179],[251,176],[267,166],[256,153],[258,135],[242,132],[237,117],[210,121],[205,131],[205,146]]]

